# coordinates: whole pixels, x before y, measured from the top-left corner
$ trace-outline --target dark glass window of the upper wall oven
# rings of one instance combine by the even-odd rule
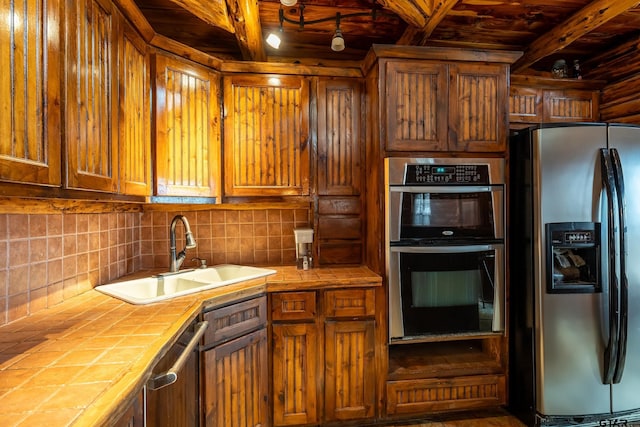
[[[492,193],[402,193],[400,238],[494,237]]]

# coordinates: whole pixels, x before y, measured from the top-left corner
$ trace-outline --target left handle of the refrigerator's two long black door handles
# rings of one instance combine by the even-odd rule
[[[619,297],[618,297],[618,276],[615,271],[616,266],[616,224],[615,224],[615,212],[617,210],[617,197],[616,183],[613,172],[613,165],[611,162],[611,156],[609,150],[606,148],[600,149],[600,166],[602,170],[602,184],[607,194],[607,247],[608,247],[608,268],[609,272],[609,300],[608,300],[608,313],[609,313],[609,338],[607,342],[607,348],[604,353],[604,372],[602,382],[604,384],[611,384],[616,371],[616,363],[618,362],[618,350],[619,350]]]

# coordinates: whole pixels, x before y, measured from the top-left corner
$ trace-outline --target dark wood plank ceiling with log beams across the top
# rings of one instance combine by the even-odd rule
[[[603,78],[602,63],[640,43],[638,0],[134,0],[156,33],[224,60],[304,64],[361,61],[372,44],[522,50],[515,73],[548,72],[558,58]],[[301,7],[302,6],[302,7]],[[303,10],[305,25],[299,22]],[[346,49],[334,52],[335,19]],[[279,49],[264,39],[282,38]],[[605,61],[606,59],[606,61]]]

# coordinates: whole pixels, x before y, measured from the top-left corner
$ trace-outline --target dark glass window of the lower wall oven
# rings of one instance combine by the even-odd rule
[[[402,253],[406,335],[491,332],[495,253]]]

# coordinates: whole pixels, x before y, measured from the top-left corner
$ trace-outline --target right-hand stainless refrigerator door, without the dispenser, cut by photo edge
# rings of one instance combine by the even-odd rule
[[[609,126],[609,148],[618,150],[625,182],[629,317],[622,379],[613,386],[613,411],[640,408],[640,128]]]

